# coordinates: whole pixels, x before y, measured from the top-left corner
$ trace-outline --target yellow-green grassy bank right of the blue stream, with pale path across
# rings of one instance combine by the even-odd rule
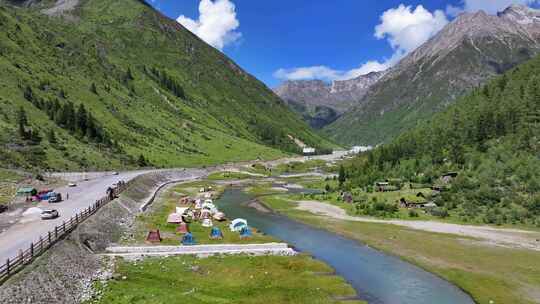
[[[540,252],[394,225],[334,220],[295,210],[296,203],[283,198],[261,200],[296,220],[362,241],[435,273],[471,294],[477,303],[538,303]]]

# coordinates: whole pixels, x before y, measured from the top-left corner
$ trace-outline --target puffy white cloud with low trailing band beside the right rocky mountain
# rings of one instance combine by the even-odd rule
[[[413,10],[412,6],[403,4],[384,12],[380,20],[381,23],[375,27],[375,37],[388,40],[394,50],[394,54],[390,58],[385,58],[382,61],[371,60],[349,71],[334,70],[327,66],[280,69],[274,73],[274,77],[282,80],[322,79],[333,81],[352,79],[370,72],[383,71],[395,65],[448,23],[446,15],[441,10],[431,13],[421,5]]]

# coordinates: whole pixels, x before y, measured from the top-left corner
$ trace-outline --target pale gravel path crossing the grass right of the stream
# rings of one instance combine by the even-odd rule
[[[339,220],[392,224],[416,230],[473,237],[496,246],[540,251],[539,232],[493,228],[487,226],[459,225],[436,221],[380,220],[374,218],[355,217],[347,215],[345,210],[337,206],[319,201],[299,201],[297,209]]]

